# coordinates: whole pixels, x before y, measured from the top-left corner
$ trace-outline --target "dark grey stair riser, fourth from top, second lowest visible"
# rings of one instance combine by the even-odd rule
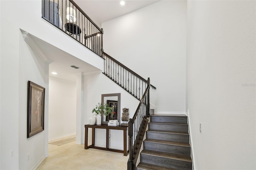
[[[144,142],[144,149],[190,156],[190,147]]]

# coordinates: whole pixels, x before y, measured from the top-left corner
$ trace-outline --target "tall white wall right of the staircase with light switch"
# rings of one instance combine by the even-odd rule
[[[255,9],[256,1],[188,1],[187,109],[197,170],[256,169]]]

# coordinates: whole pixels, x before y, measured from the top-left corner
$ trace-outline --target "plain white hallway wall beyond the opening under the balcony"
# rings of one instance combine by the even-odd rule
[[[49,140],[76,134],[76,83],[49,78]]]

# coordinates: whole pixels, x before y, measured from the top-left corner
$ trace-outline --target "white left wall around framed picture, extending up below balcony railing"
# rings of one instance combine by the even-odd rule
[[[41,0],[0,0],[0,169],[4,170],[32,169],[42,160],[40,156],[48,156],[48,67],[23,44],[20,29],[103,68],[100,57],[42,19],[41,9]],[[28,80],[46,87],[45,130],[30,139],[26,139],[24,99]],[[25,160],[28,153],[29,161]]]

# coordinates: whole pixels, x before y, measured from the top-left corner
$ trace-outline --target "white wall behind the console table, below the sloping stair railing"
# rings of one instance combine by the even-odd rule
[[[82,139],[84,139],[84,125],[89,124],[89,118],[92,117],[92,109],[98,102],[101,103],[101,95],[108,93],[121,93],[120,111],[122,116],[122,109],[124,107],[129,109],[129,117],[132,118],[139,101],[132,95],[127,93],[124,89],[110,80],[102,73],[85,75],[84,76],[84,123],[82,128]],[[121,121],[122,123],[122,121]],[[89,128],[88,142],[91,142],[91,129]],[[110,148],[123,149],[123,131],[110,130]],[[84,143],[84,140],[83,140]],[[106,130],[95,130],[95,146],[106,147]]]

